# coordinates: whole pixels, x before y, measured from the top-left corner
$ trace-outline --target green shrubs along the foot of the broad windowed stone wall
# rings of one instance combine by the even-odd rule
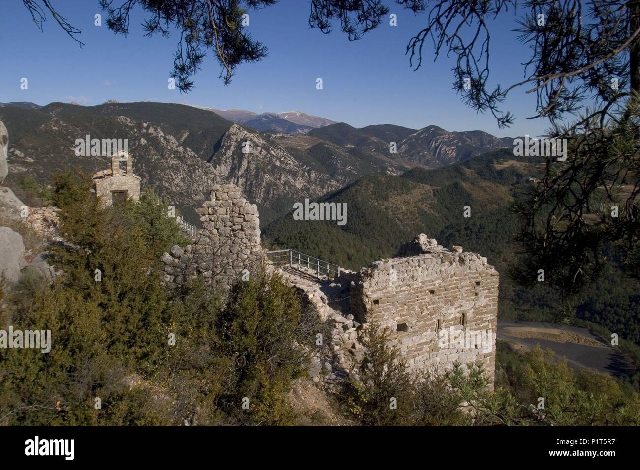
[[[369,324],[365,332],[360,378],[347,384],[342,402],[362,425],[640,425],[637,393],[600,373],[572,372],[551,350],[520,354],[500,344],[492,390],[477,364],[412,378],[387,329]]]

